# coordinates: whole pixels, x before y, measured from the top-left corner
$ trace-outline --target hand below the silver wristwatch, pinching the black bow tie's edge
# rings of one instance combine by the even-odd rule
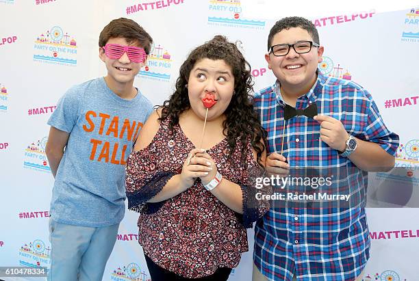
[[[330,116],[314,116],[314,120],[320,123],[320,139],[335,150],[344,151],[346,140],[349,138],[348,132],[340,122]]]

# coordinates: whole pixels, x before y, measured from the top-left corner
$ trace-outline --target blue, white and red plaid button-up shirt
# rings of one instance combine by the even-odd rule
[[[348,170],[347,185],[365,196],[368,178],[348,158],[320,140],[320,124],[305,116],[284,122],[285,103],[279,82],[253,99],[262,126],[268,131],[268,153],[281,153],[291,168]],[[324,77],[296,101],[296,109],[316,103],[318,114],[331,116],[346,131],[379,144],[395,155],[398,135],[385,126],[370,94],[353,81]],[[284,130],[285,124],[285,130]],[[369,258],[370,239],[365,201],[345,209],[291,208],[273,204],[255,226],[254,263],[268,280],[354,280]]]

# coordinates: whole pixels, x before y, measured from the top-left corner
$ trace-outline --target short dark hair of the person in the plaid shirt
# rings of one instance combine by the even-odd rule
[[[275,25],[270,29],[268,36],[268,51],[270,46],[272,46],[272,39],[278,32],[281,32],[283,29],[290,29],[290,27],[301,27],[302,29],[307,30],[310,36],[312,36],[314,42],[320,44],[320,39],[318,38],[318,31],[316,26],[307,18],[301,18],[300,16],[289,16],[287,18],[281,18],[275,23]]]

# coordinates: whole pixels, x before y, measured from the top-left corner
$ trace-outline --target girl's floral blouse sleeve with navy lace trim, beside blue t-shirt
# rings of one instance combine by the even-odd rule
[[[152,144],[133,151],[127,159],[125,185],[128,209],[142,212],[151,198],[162,191],[174,172],[157,168],[157,151]]]

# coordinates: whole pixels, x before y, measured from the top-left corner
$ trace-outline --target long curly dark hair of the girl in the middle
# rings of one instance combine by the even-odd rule
[[[251,144],[257,152],[257,162],[260,163],[262,152],[266,149],[266,131],[262,128],[257,113],[253,110],[252,93],[253,81],[251,77],[251,66],[236,44],[227,41],[225,36],[215,36],[212,40],[196,47],[180,67],[179,77],[176,81],[176,90],[164,101],[160,121],[170,117],[169,128],[179,124],[181,113],[190,109],[188,98],[188,79],[190,71],[196,62],[201,59],[223,59],[231,67],[234,75],[234,94],[231,97],[229,106],[225,110],[226,120],[223,122],[223,134],[231,148],[230,156],[236,148],[236,139],[246,144],[246,138],[250,136]],[[262,142],[261,142],[262,139]],[[244,156],[244,155],[243,155]]]

